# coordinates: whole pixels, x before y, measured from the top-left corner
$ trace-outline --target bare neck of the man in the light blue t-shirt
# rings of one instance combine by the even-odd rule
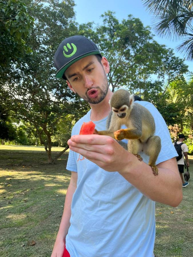
[[[111,111],[109,101],[111,99],[112,94],[113,93],[110,91],[110,89],[108,89],[107,95],[102,102],[98,104],[90,104],[92,108],[90,116],[91,121],[100,121],[109,115]]]

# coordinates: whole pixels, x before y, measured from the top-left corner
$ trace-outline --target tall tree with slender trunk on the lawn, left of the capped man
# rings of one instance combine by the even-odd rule
[[[59,43],[73,33],[74,2],[26,0],[25,3],[35,20],[26,40],[32,51],[20,63],[12,65],[7,82],[1,83],[10,95],[18,119],[33,125],[45,146],[48,162],[54,163],[59,155],[51,156],[51,136],[56,132],[57,123],[78,109],[78,101],[73,100],[66,83],[55,79],[53,63]],[[45,141],[43,134],[46,135]]]

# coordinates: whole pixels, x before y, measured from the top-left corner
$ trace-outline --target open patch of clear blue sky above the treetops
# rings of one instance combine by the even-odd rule
[[[100,17],[104,12],[110,10],[115,12],[116,18],[121,22],[123,19],[127,19],[129,14],[132,14],[134,18],[139,18],[144,26],[150,26],[153,28],[153,15],[150,15],[146,10],[141,0],[75,0],[75,13],[76,21],[80,23],[94,22],[95,24],[102,24],[102,18]],[[184,55],[175,50],[180,45],[180,42],[174,42],[166,38],[156,36],[156,32],[151,29],[151,32],[155,35],[154,40],[159,44],[166,45],[174,49],[174,53],[177,57],[185,58]],[[189,71],[193,72],[193,62],[185,61],[188,65]]]

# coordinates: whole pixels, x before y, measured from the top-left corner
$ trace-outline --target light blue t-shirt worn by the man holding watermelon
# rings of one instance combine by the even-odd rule
[[[136,101],[154,116],[155,135],[162,148],[156,164],[177,156],[167,125],[151,103]],[[89,111],[73,127],[79,134]],[[106,120],[95,121],[97,130]],[[148,163],[149,157],[139,153]],[[152,257],[155,241],[155,202],[144,196],[118,172],[108,172],[80,154],[69,151],[67,170],[78,172],[71,203],[66,248],[71,257]],[[153,173],[152,173],[152,176]],[[159,176],[159,175],[158,175]]]

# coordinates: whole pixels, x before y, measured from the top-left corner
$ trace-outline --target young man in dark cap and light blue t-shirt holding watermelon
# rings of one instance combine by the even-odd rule
[[[55,65],[56,77],[66,79],[91,110],[68,141],[71,180],[51,257],[61,257],[65,245],[71,257],[154,256],[155,201],[178,206],[182,200],[176,150],[162,116],[151,103],[138,101],[154,116],[163,145],[154,176],[143,152],[140,162],[109,136],[79,135],[88,121],[105,130],[111,111],[110,67],[97,46],[83,36],[69,37],[56,51]]]

